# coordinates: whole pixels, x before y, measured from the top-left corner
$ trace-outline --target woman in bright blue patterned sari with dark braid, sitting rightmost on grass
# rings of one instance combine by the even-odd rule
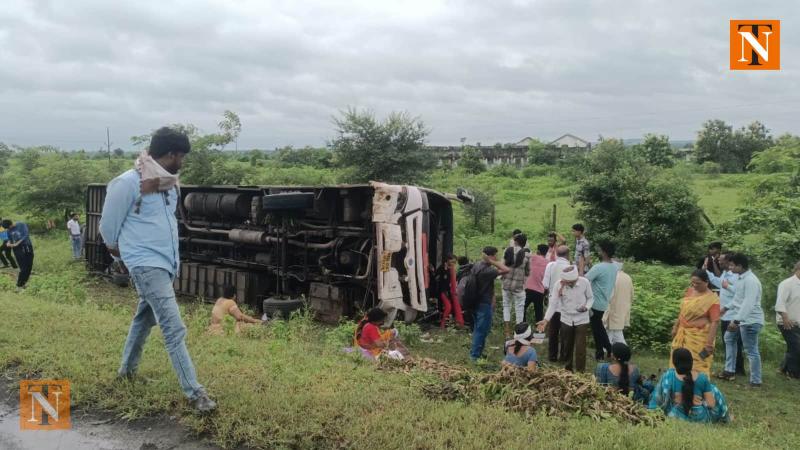
[[[674,368],[661,377],[648,408],[660,408],[667,417],[690,422],[730,422],[725,397],[705,373],[692,370],[693,363],[692,352],[675,349],[672,352]]]

